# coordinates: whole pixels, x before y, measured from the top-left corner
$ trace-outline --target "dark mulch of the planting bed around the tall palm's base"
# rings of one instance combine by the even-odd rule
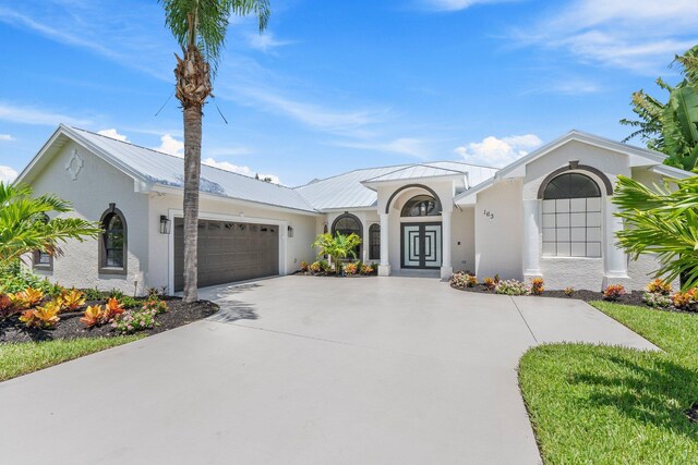
[[[140,331],[140,334],[157,334],[183,325],[191,323],[202,318],[209,317],[218,311],[218,305],[208,301],[198,301],[185,304],[181,298],[165,298],[169,309],[155,317],[158,325],[155,328]],[[96,302],[101,303],[104,302]],[[87,303],[94,305],[95,302]],[[111,325],[101,327],[85,328],[80,322],[83,311],[61,314],[61,320],[55,329],[43,330],[26,328],[20,320],[19,315],[13,315],[4,320],[0,320],[0,343],[2,342],[29,342],[50,341],[53,339],[75,339],[75,338],[110,338],[119,335]]]

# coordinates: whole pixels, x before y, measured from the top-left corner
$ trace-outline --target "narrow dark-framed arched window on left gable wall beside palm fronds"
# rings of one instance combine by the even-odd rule
[[[99,272],[127,274],[127,221],[121,210],[109,204],[100,221]]]

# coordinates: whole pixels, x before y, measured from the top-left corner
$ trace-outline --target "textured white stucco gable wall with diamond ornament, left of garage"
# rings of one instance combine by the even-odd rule
[[[75,180],[65,169],[73,150],[83,160]],[[32,182],[36,195],[53,193],[70,200],[75,217],[98,221],[115,203],[125,217],[128,225],[128,274],[98,273],[98,242],[71,241],[64,256],[53,260],[52,271],[38,271],[64,286],[119,289],[127,294],[143,293],[147,286],[147,196],[134,192],[133,180],[75,143],[68,143]]]

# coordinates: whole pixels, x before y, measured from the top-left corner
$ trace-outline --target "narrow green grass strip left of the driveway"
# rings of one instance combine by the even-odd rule
[[[82,338],[0,344],[0,381],[40,370],[105,348],[136,341],[142,335]]]

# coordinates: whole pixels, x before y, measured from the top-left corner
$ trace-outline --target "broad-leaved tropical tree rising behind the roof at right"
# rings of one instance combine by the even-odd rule
[[[676,86],[657,79],[669,91],[666,103],[643,90],[633,94],[633,111],[639,120],[621,120],[635,127],[627,142],[640,137],[652,150],[669,155],[666,164],[695,171],[698,162],[698,46],[676,56],[672,65],[678,66],[684,79]]]

